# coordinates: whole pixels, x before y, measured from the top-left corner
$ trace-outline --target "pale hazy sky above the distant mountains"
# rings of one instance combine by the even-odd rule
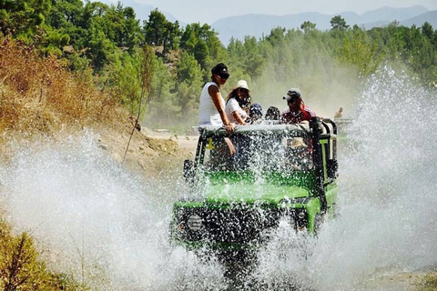
[[[185,23],[200,22],[209,25],[220,18],[246,14],[292,15],[319,12],[333,15],[353,11],[361,15],[382,6],[398,8],[413,5],[437,10],[437,0],[135,0],[135,2],[158,7],[159,11],[168,12]]]

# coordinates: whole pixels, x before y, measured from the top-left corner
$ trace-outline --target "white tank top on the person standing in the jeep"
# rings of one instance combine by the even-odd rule
[[[200,102],[198,105],[198,125],[223,125],[221,121],[221,117],[219,115],[219,111],[212,102],[212,97],[208,93],[208,88],[210,85],[215,85],[219,88],[219,86],[214,82],[208,82],[202,89],[202,93],[200,94]],[[225,99],[220,93],[220,103],[225,109]]]

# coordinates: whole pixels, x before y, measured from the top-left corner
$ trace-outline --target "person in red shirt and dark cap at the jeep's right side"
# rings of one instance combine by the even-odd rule
[[[283,99],[287,100],[289,105],[280,118],[283,124],[299,124],[302,121],[310,121],[311,117],[316,116],[316,112],[303,103],[300,89],[291,88]]]

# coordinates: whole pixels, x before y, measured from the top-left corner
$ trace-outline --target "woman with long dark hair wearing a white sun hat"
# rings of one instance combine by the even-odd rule
[[[230,92],[225,107],[229,121],[239,125],[247,125],[246,119],[248,119],[249,116],[250,102],[251,97],[248,82],[239,80],[232,92]]]

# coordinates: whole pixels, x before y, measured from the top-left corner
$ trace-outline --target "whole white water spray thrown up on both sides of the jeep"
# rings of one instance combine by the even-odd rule
[[[365,290],[381,274],[437,262],[435,95],[382,68],[358,104],[354,142],[339,155],[340,218],[317,238],[281,223],[241,289]],[[23,147],[0,166],[15,228],[95,289],[231,288],[216,260],[168,243],[183,183],[130,175],[91,136]]]

